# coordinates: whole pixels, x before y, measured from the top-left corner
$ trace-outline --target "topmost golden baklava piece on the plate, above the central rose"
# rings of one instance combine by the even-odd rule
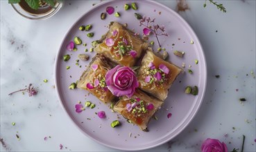
[[[96,53],[103,53],[105,57],[123,66],[134,66],[147,48],[139,36],[117,22],[110,25],[110,30],[101,41],[94,49]]]

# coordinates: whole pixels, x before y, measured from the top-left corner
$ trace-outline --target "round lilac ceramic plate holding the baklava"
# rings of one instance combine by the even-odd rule
[[[102,2],[94,6],[74,23],[62,41],[56,58],[56,88],[63,108],[85,135],[113,149],[136,151],[149,149],[168,142],[185,129],[196,115],[203,101],[207,70],[200,42],[194,31],[180,15],[154,1],[137,1],[138,10],[124,10],[123,6],[125,3],[131,2]],[[112,14],[107,15],[105,20],[101,20],[101,12],[105,12],[108,6],[114,7],[115,12],[119,12],[121,17],[115,17]],[[142,35],[143,27],[139,26],[139,21],[134,15],[135,12],[151,17],[151,19],[155,18],[155,23],[165,26],[169,37],[160,36],[160,44],[169,53],[169,61],[177,66],[183,66],[185,71],[185,73],[178,76],[171,86],[169,96],[164,101],[164,105],[155,114],[157,120],[152,119],[149,122],[149,132],[141,131],[139,127],[129,124],[121,115],[118,117],[117,113],[112,113],[108,106],[102,104],[94,95],[89,95],[87,91],[78,88],[74,90],[69,89],[69,85],[79,79],[86,69],[85,66],[89,64],[95,55],[95,53],[90,53],[89,51],[85,53],[85,48],[89,50],[91,41],[100,39],[101,35],[108,31],[107,26],[110,21],[128,23],[129,29],[135,30],[135,32]],[[79,26],[87,24],[92,24],[93,26],[89,30],[89,32],[94,32],[94,37],[92,38],[86,36],[87,32],[78,30]],[[69,41],[73,41],[74,37],[80,37],[83,44],[87,43],[87,46],[76,46],[77,51],[67,50],[67,44]],[[149,37],[149,41],[155,41],[153,48],[157,50],[157,41],[153,35]],[[191,43],[191,41],[194,41],[194,43]],[[174,50],[184,51],[184,57],[173,55]],[[78,55],[83,53],[89,55],[90,59],[88,61],[79,61],[79,65],[76,65]],[[63,61],[63,55],[67,54],[71,56],[71,59],[65,62]],[[195,60],[198,60],[198,64],[195,63]],[[69,70],[66,69],[67,66],[70,66]],[[188,69],[193,70],[193,74],[187,73]],[[198,86],[198,95],[185,94],[185,87],[188,85]],[[78,104],[78,101],[84,104],[87,100],[96,104],[96,107],[93,109],[85,108],[85,111],[82,113],[76,113],[75,105]],[[98,111],[105,111],[107,117],[100,119],[95,114]],[[169,118],[167,118],[168,113],[172,114]],[[117,119],[121,122],[121,126],[113,129],[110,124],[113,120]]]

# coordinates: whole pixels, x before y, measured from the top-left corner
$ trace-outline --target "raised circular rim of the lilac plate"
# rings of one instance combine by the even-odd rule
[[[80,21],[80,19],[82,19],[83,17],[85,17],[85,15],[87,15],[87,13],[91,12],[92,10],[97,9],[98,7],[103,6],[103,5],[105,5],[106,3],[112,3],[113,1],[117,1],[117,0],[103,1],[103,2],[101,2],[101,3],[99,3],[99,4],[97,4],[96,7],[90,8],[90,9],[87,10],[85,13],[83,13],[83,15],[81,15],[81,16],[70,26],[69,30],[67,30],[67,32],[66,32],[65,36],[63,37],[62,42],[61,42],[61,44],[60,44],[60,46],[59,46],[58,53],[57,53],[57,55],[56,55],[55,66],[54,66],[54,78],[55,78],[54,83],[55,83],[55,86],[56,86],[56,93],[57,93],[57,95],[58,95],[58,100],[59,100],[59,102],[60,102],[60,105],[62,106],[62,109],[63,109],[63,110],[65,111],[65,113],[68,115],[68,117],[69,117],[69,119],[71,120],[71,122],[73,122],[73,123],[75,124],[76,128],[78,128],[78,130],[79,130],[80,132],[82,132],[84,135],[86,135],[87,137],[89,137],[89,139],[91,139],[91,140],[93,140],[93,141],[95,141],[95,142],[97,142],[97,143],[99,143],[99,144],[101,144],[101,145],[107,146],[107,147],[109,147],[109,148],[118,149],[118,150],[122,150],[122,151],[142,151],[142,150],[146,150],[146,149],[152,149],[152,148],[154,148],[154,147],[156,147],[156,146],[160,146],[160,145],[162,145],[162,144],[164,144],[164,143],[166,143],[166,142],[169,142],[169,140],[171,140],[171,139],[173,139],[174,137],[176,137],[177,135],[179,135],[182,131],[184,131],[184,130],[187,128],[187,126],[192,122],[192,120],[194,120],[194,117],[195,117],[196,114],[198,113],[198,111],[199,111],[199,109],[200,109],[200,106],[201,106],[202,103],[203,103],[203,99],[204,99],[204,97],[205,97],[205,92],[206,92],[206,88],[207,88],[207,62],[206,62],[206,60],[205,60],[205,53],[204,53],[204,50],[203,50],[203,46],[201,45],[201,43],[200,43],[200,41],[199,41],[199,39],[198,39],[198,37],[197,37],[197,35],[196,35],[196,32],[194,32],[193,28],[191,28],[191,26],[189,25],[189,23],[187,23],[187,21],[185,21],[185,19],[183,19],[183,18],[178,14],[178,12],[172,10],[171,8],[165,6],[164,4],[159,3],[159,2],[157,2],[157,1],[144,0],[144,1],[146,1],[146,2],[153,3],[153,4],[155,4],[155,5],[158,5],[158,6],[162,7],[162,8],[167,9],[169,12],[173,13],[173,15],[175,15],[176,17],[178,17],[178,19],[180,19],[180,21],[182,21],[182,23],[184,23],[184,26],[187,28],[187,30],[191,31],[191,35],[193,35],[193,37],[195,38],[194,41],[196,41],[196,42],[198,43],[198,47],[199,47],[200,50],[201,50],[201,53],[200,53],[200,54],[201,54],[201,56],[202,56],[202,58],[203,58],[203,62],[200,61],[200,63],[203,63],[203,66],[204,66],[204,67],[202,67],[202,68],[204,68],[203,71],[205,71],[205,79],[203,79],[203,80],[204,80],[204,82],[203,82],[203,83],[204,83],[204,84],[203,84],[203,91],[202,91],[203,93],[202,93],[202,95],[199,97],[199,98],[200,98],[200,99],[199,99],[199,104],[191,110],[191,113],[189,113],[189,115],[191,115],[191,116],[190,116],[190,117],[187,117],[187,118],[185,119],[185,121],[184,121],[182,124],[180,124],[179,127],[181,127],[181,129],[178,129],[178,131],[176,131],[176,133],[174,133],[171,137],[168,137],[168,139],[163,139],[164,141],[160,141],[160,142],[158,142],[158,143],[156,143],[156,144],[153,144],[153,145],[151,145],[151,146],[143,146],[142,148],[129,148],[129,149],[126,149],[126,148],[122,148],[122,147],[112,146],[112,145],[110,145],[110,144],[105,144],[104,142],[101,142],[101,141],[97,140],[96,138],[92,137],[91,135],[85,133],[85,131],[83,131],[83,130],[80,128],[80,126],[78,126],[78,125],[76,124],[75,120],[71,117],[71,115],[69,115],[69,113],[68,113],[68,111],[67,111],[67,108],[65,108],[65,106],[64,106],[64,104],[63,104],[63,102],[62,102],[62,98],[60,97],[60,88],[58,87],[58,77],[57,77],[57,76],[58,76],[58,74],[57,74],[57,73],[58,73],[58,66],[59,66],[59,64],[58,64],[58,59],[59,59],[59,57],[60,57],[61,48],[62,48],[62,46],[64,45],[65,38],[69,35],[69,32],[74,28],[74,26],[76,25],[76,23],[78,23],[78,21]],[[196,105],[196,104],[195,104],[195,105]]]

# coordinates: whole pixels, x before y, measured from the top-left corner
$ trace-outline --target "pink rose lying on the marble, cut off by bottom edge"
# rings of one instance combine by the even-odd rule
[[[207,138],[201,146],[202,152],[228,152],[227,145],[224,142],[220,142],[216,139]]]

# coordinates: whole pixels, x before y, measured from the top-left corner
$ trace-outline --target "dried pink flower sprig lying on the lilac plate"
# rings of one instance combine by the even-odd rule
[[[139,26],[145,26],[148,28],[148,30],[151,30],[153,34],[155,35],[158,45],[161,47],[161,44],[159,42],[158,36],[166,36],[168,37],[167,32],[165,32],[164,26],[159,26],[157,23],[155,23],[155,19],[151,19],[150,17],[142,17],[141,20],[139,20]]]

